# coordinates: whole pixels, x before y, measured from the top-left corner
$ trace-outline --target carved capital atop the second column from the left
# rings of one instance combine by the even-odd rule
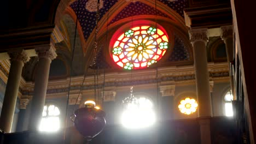
[[[50,58],[53,60],[57,57],[56,49],[53,44],[45,47],[36,47],[36,52],[39,58]]]

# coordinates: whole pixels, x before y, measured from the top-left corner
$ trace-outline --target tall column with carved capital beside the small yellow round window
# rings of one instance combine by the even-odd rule
[[[206,55],[207,28],[190,29],[189,34],[194,52],[201,143],[209,144],[211,143],[210,117],[212,116],[212,106]]]

